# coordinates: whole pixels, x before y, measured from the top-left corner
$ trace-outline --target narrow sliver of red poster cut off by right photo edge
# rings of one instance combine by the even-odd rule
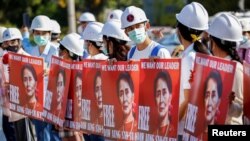
[[[250,64],[243,63],[243,123],[250,125]]]

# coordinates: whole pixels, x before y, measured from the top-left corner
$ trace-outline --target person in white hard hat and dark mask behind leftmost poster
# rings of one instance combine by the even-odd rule
[[[17,28],[7,28],[3,32],[3,43],[5,44],[5,55],[8,55],[8,52],[14,52],[22,55],[28,55],[23,49],[22,49],[22,35],[19,29]],[[5,56],[4,55],[4,56]],[[6,82],[6,92],[9,94],[9,66],[8,64],[4,65],[4,73]],[[9,121],[13,122],[14,129],[15,129],[15,138],[20,141],[26,141],[26,140],[32,140],[35,141],[35,132],[34,132],[34,126],[31,123],[31,120],[27,118],[24,115],[18,114],[13,111],[9,111],[9,109],[6,109],[6,113],[9,113]],[[8,126],[8,124],[7,124]],[[10,128],[9,128],[10,129]],[[7,133],[6,135],[8,135]],[[13,137],[11,135],[11,137]],[[9,137],[7,137],[8,139]]]

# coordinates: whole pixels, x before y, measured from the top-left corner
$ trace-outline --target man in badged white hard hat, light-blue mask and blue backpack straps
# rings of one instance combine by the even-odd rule
[[[135,6],[127,7],[122,14],[121,24],[121,28],[125,29],[125,33],[136,45],[130,49],[128,59],[139,60],[152,56],[171,57],[167,49],[162,48],[148,37],[146,32],[150,28],[150,24],[142,9]]]

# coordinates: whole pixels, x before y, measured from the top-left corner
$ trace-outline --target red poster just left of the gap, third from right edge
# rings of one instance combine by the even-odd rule
[[[177,140],[180,59],[141,59],[140,141]]]

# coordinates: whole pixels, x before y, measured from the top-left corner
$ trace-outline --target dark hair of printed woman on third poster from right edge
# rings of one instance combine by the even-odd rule
[[[160,71],[154,80],[154,95],[156,95],[157,81],[162,79],[168,86],[169,93],[172,94],[172,79],[168,71]]]

